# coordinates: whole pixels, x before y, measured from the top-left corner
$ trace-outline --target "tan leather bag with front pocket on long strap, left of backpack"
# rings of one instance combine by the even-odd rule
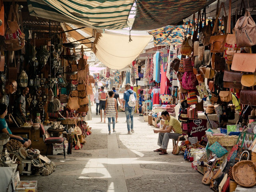
[[[220,32],[218,33],[220,35],[214,35],[215,32],[218,32],[217,23],[218,23],[218,18],[220,16],[220,11],[221,11],[222,7],[223,7],[224,13],[226,15],[225,5],[222,2],[220,4],[218,15],[216,16],[216,20],[215,20],[215,23],[214,23],[214,28],[212,30],[212,36],[210,37],[211,52],[212,53],[224,52],[224,48],[225,48],[225,43],[226,43],[227,35],[226,34],[221,35]]]

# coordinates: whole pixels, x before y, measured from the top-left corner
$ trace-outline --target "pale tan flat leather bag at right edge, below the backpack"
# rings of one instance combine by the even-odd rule
[[[251,72],[256,70],[256,54],[235,53],[231,69],[234,71]]]

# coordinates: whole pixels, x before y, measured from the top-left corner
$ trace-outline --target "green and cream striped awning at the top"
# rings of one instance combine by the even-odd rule
[[[134,0],[27,0],[30,15],[90,28],[122,29]]]

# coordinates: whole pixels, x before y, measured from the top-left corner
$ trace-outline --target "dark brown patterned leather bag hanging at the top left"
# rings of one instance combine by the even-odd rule
[[[4,48],[8,51],[20,50],[25,45],[25,34],[20,30],[17,13],[14,11],[14,7],[15,4],[13,3],[10,6],[10,12],[7,20],[7,29],[4,36]]]

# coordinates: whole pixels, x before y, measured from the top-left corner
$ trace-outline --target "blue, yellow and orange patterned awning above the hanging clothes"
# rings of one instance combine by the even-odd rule
[[[184,25],[166,26],[152,31],[148,34],[154,36],[154,46],[181,44],[184,40]]]

